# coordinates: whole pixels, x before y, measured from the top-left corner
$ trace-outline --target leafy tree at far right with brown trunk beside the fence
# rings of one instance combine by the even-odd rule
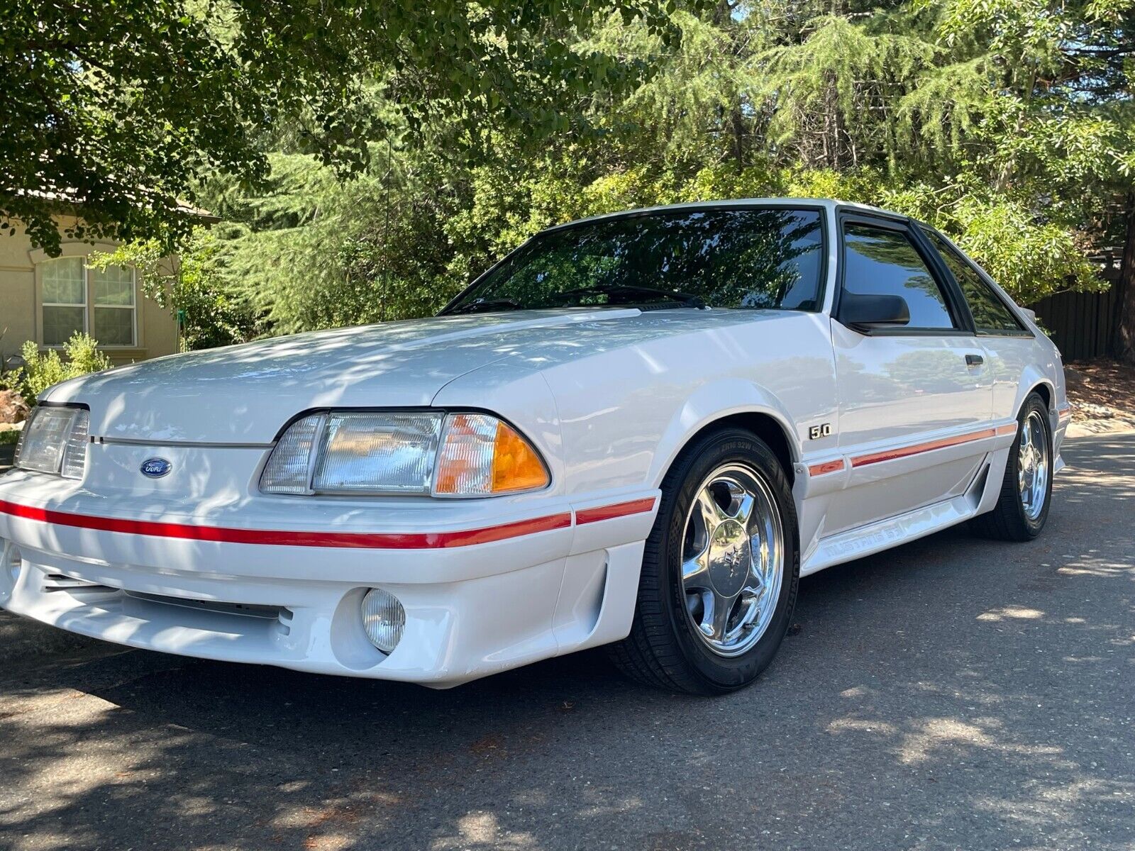
[[[927,137],[952,127],[940,152],[997,195],[1031,199],[1041,225],[1079,231],[1082,251],[1124,246],[1115,348],[1135,363],[1135,0],[936,6],[952,61],[908,111]]]

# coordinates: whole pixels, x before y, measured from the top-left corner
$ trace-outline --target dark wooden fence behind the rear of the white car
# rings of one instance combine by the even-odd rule
[[[1111,354],[1119,326],[1119,256],[1099,258],[1100,275],[1112,286],[1102,293],[1059,293],[1031,305],[1065,361]]]

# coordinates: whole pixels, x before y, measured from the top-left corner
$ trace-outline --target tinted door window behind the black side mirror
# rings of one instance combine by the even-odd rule
[[[910,329],[951,329],[945,296],[910,236],[901,230],[843,226],[843,288],[856,295],[902,296]]]

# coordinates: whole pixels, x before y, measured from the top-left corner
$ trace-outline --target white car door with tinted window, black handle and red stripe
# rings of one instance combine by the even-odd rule
[[[984,458],[993,382],[952,279],[907,221],[840,218],[840,292],[898,295],[906,326],[857,331],[833,312],[839,445],[850,464],[824,534],[965,492]]]

